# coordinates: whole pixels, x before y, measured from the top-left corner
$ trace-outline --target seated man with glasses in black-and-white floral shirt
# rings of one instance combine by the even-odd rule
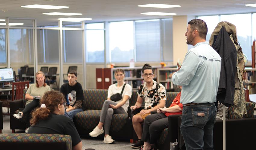
[[[142,127],[141,123],[144,121],[145,117],[150,115],[152,111],[156,111],[158,108],[165,107],[166,101],[166,91],[165,87],[162,84],[158,84],[153,80],[154,72],[152,67],[149,64],[145,64],[142,67],[142,73],[144,78],[144,83],[139,86],[137,102],[134,106],[131,106],[131,110],[136,110],[142,105],[144,99],[145,107],[138,114],[133,116],[133,128],[138,136],[138,142],[132,145],[132,148],[140,148],[143,146],[141,141],[142,136]]]

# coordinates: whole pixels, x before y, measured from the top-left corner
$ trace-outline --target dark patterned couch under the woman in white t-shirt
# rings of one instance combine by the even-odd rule
[[[130,105],[134,105],[137,100],[137,91],[132,91]],[[84,105],[86,110],[77,113],[73,119],[80,136],[88,137],[89,133],[98,125],[101,108],[108,97],[108,90],[105,89],[85,89]],[[115,139],[131,139],[133,133],[132,123],[128,119],[128,113],[114,114],[110,128],[110,135]],[[100,135],[103,137],[104,134]]]

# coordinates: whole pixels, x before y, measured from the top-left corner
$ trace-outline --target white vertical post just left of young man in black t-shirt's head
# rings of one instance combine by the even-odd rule
[[[60,70],[60,82],[59,82],[59,87],[63,84],[63,41],[62,41],[62,21],[58,20],[58,25],[59,25],[59,70]]]

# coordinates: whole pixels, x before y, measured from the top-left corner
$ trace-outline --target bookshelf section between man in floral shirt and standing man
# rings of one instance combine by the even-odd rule
[[[158,68],[157,69],[157,81],[165,86],[166,89],[171,89],[173,87],[172,79],[169,78],[170,73],[177,71],[176,67],[171,68]]]

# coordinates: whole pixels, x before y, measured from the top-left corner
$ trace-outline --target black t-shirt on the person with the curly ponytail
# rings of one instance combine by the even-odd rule
[[[51,113],[47,119],[40,120],[35,125],[32,125],[28,133],[70,135],[72,137],[73,146],[81,141],[74,122],[66,116],[56,115],[54,113]]]

